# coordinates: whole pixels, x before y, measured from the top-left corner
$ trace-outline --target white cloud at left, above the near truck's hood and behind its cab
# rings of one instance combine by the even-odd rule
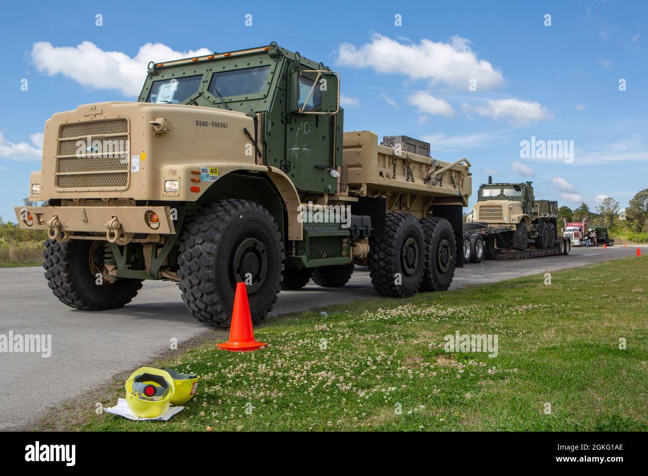
[[[121,51],[104,51],[91,41],[76,47],[54,47],[49,41],[40,41],[32,47],[32,61],[38,71],[48,76],[63,74],[93,89],[117,89],[126,96],[135,96],[142,89],[148,62],[210,53],[207,48],[174,51],[162,43],[146,43],[131,58]]]

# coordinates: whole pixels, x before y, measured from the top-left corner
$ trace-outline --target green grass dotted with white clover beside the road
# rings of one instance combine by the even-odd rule
[[[40,427],[646,430],[647,290],[648,258],[624,258],[553,273],[550,286],[535,275],[271,318],[255,330],[267,348],[226,352],[214,341],[156,363],[201,376],[169,422],[97,415],[91,400]],[[498,356],[447,354],[443,337],[456,330],[497,334]],[[110,406],[123,393],[115,381],[98,399]]]

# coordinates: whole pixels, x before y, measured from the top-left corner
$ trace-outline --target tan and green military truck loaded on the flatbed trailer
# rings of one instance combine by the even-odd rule
[[[509,229],[496,235],[502,249],[527,249],[527,240],[535,241],[536,249],[553,247],[556,242],[558,202],[537,200],[532,182],[482,184],[470,220],[487,227]]]

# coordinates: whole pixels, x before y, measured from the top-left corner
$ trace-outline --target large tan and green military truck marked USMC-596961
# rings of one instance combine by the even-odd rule
[[[44,229],[45,277],[82,310],[172,280],[192,315],[229,323],[246,282],[253,321],[280,289],[343,286],[369,267],[380,295],[445,290],[470,163],[343,133],[340,77],[277,43],[148,65],[137,102],[45,123],[21,228]]]

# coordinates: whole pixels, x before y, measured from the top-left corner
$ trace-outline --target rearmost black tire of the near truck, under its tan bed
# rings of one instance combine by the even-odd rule
[[[450,221],[445,218],[422,218],[425,239],[425,262],[419,291],[446,291],[452,284],[456,266],[456,244]],[[470,244],[470,235],[469,244]],[[472,247],[470,248],[472,256]]]

